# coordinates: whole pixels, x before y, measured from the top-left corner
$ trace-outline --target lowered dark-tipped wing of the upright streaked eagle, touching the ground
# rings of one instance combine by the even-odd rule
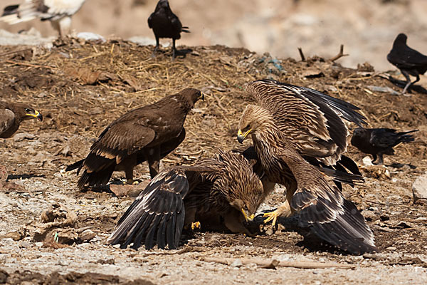
[[[304,161],[293,165],[292,172],[298,188],[290,207],[300,211],[302,227],[311,227],[318,237],[353,254],[377,251],[364,217],[331,181]]]

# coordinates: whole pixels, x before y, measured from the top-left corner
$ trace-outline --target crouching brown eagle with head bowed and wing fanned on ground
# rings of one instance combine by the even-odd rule
[[[223,217],[231,232],[251,234],[243,222],[253,219],[263,200],[263,186],[251,162],[235,152],[219,152],[192,166],[160,172],[139,194],[107,240],[178,247],[181,231],[199,217]]]

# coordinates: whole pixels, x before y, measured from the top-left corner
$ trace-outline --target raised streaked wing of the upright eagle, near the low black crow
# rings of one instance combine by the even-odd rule
[[[301,155],[318,157],[327,165],[334,165],[347,150],[349,132],[342,119],[364,123],[359,108],[317,90],[273,80],[253,81],[245,88]]]

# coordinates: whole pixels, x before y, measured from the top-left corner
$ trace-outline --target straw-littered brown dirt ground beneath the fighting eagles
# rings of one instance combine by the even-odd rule
[[[275,59],[243,48],[181,49],[183,55],[172,61],[169,49],[152,58],[152,46],[124,41],[69,40],[50,51],[0,47],[2,100],[30,103],[44,117],[42,123],[23,123],[13,138],[1,139],[1,165],[8,180],[0,185],[0,283],[427,282],[426,203],[414,203],[411,190],[416,177],[427,172],[426,90],[418,86],[419,92],[400,95],[401,88],[386,80],[389,74],[374,71],[368,63],[350,69],[340,66],[340,60]],[[397,73],[393,76],[401,78]],[[118,218],[145,185],[147,165],[137,167],[142,185],[123,197],[108,190],[79,192],[78,177],[64,172],[65,166],[85,157],[113,119],[186,87],[199,88],[206,100],[196,103],[186,119],[186,140],[162,160],[162,167],[191,164],[213,155],[218,147],[242,147],[236,141],[236,126],[251,101],[242,86],[260,78],[315,88],[347,100],[361,108],[371,127],[418,129],[415,142],[396,147],[396,155],[385,157],[384,167],[364,165],[365,155],[349,147],[349,156],[358,162],[366,182],[344,187],[344,195],[366,217],[381,252],[364,256],[341,252],[297,227],[297,217],[280,219],[280,227],[272,234],[261,224],[260,215],[255,222],[265,234],[255,238],[211,232],[202,225],[201,231],[173,251],[106,245]],[[115,173],[113,184],[122,177],[123,173]],[[278,187],[260,210],[280,204],[282,193]],[[47,209],[58,217],[46,219],[42,213]],[[227,263],[226,258],[236,260]],[[293,266],[312,261],[316,266],[266,269],[246,259],[276,259]],[[350,268],[342,267],[346,265]]]

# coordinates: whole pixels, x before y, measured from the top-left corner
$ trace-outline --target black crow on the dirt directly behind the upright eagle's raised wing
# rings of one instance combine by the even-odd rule
[[[376,155],[378,155],[379,161],[376,164],[382,165],[383,155],[394,155],[393,147],[401,142],[412,142],[413,136],[408,135],[408,133],[416,131],[410,130],[396,133],[396,130],[388,128],[357,128],[352,136],[352,145],[362,152],[371,154],[374,157],[374,161],[376,160]]]

